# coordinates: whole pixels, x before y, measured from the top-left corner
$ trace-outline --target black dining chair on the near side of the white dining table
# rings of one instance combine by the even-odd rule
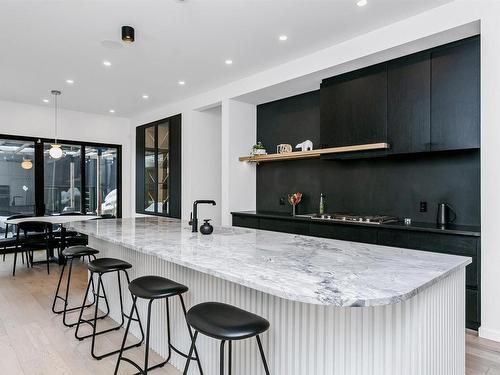
[[[52,237],[52,225],[42,221],[24,221],[17,224],[17,241],[19,252],[25,252],[27,261],[33,267],[33,255],[35,251],[45,250],[47,274],[50,274],[50,251],[57,246]],[[16,268],[17,253],[14,253],[14,275]]]

